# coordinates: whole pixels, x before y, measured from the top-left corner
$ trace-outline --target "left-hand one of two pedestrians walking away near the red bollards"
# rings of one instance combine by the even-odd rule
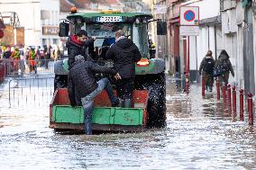
[[[199,67],[199,75],[204,77],[206,81],[206,90],[209,92],[213,91],[214,85],[214,76],[213,71],[215,68],[215,59],[213,58],[213,52],[208,50],[206,53],[206,57],[203,58],[200,67]],[[203,70],[203,73],[202,73]]]

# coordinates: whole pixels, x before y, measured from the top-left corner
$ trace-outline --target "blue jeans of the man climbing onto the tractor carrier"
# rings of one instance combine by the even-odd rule
[[[94,99],[97,94],[100,94],[104,89],[108,94],[111,103],[116,101],[116,97],[114,96],[112,86],[109,83],[107,78],[102,78],[97,82],[97,88],[91,94],[87,94],[87,96],[81,98],[81,102],[84,108],[85,115],[85,132],[87,135],[92,134],[92,114],[94,110]]]

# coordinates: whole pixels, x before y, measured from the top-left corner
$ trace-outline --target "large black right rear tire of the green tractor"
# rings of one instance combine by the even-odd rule
[[[165,74],[144,75],[135,78],[135,88],[147,89],[149,115],[147,128],[164,128],[166,126],[166,80]]]

